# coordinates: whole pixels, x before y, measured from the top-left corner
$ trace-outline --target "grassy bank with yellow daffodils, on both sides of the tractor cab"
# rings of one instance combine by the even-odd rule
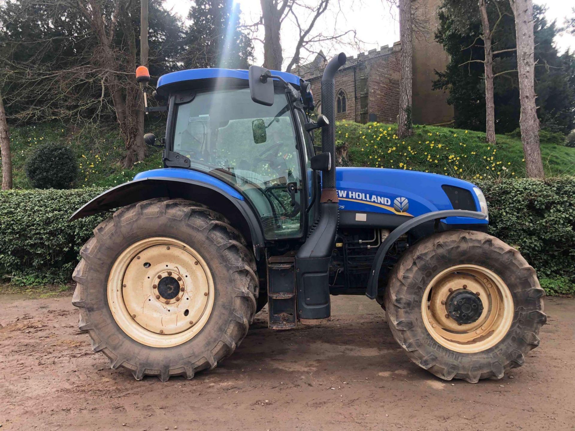
[[[162,121],[147,125],[161,136]],[[464,179],[525,176],[523,147],[519,137],[497,135],[497,144],[485,143],[485,133],[438,126],[415,126],[413,136],[400,140],[393,124],[338,122],[336,140],[344,152],[344,166],[369,166],[435,172]],[[31,188],[24,166],[38,145],[46,142],[70,145],[78,156],[80,176],[76,187],[113,187],[138,172],[162,166],[161,151],[129,169],[122,166],[124,142],[115,125],[75,130],[61,124],[18,126],[10,129],[14,186]],[[575,148],[542,141],[543,166],[548,176],[575,174]]]

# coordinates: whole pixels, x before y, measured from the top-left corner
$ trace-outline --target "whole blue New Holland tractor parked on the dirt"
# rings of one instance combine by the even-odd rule
[[[335,166],[329,61],[310,83],[251,66],[159,78],[163,168],[71,217],[114,211],[74,272],[79,328],[112,368],[193,378],[231,355],[264,305],[269,328],[321,324],[330,295],[366,295],[397,343],[442,379],[500,379],[546,321],[519,251],[490,236],[481,190],[423,172]],[[137,79],[150,75],[140,67]],[[321,149],[314,130],[321,129]],[[320,130],[317,130],[319,132]],[[319,133],[318,133],[319,134]]]

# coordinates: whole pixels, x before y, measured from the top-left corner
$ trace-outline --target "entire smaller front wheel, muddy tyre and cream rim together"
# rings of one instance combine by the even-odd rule
[[[501,379],[539,345],[535,270],[496,237],[450,230],[420,240],[389,276],[384,303],[410,359],[444,380]]]

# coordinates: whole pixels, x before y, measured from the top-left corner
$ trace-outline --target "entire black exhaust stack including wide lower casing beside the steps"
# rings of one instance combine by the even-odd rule
[[[321,113],[328,120],[321,130],[323,152],[331,155],[331,169],[321,180],[320,218],[296,255],[297,318],[303,324],[325,321],[331,315],[329,262],[338,230],[338,191],[335,187],[335,74],[346,64],[342,52],[325,67],[321,79]]]

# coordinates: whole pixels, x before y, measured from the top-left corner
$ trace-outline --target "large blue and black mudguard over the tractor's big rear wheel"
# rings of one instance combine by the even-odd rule
[[[225,184],[216,186],[200,180],[186,178],[148,177],[136,179],[110,188],[98,195],[68,221],[113,210],[132,203],[153,198],[188,199],[207,205],[210,209],[229,218],[232,225],[254,246],[256,259],[264,247],[263,229],[254,210],[235,188]]]

